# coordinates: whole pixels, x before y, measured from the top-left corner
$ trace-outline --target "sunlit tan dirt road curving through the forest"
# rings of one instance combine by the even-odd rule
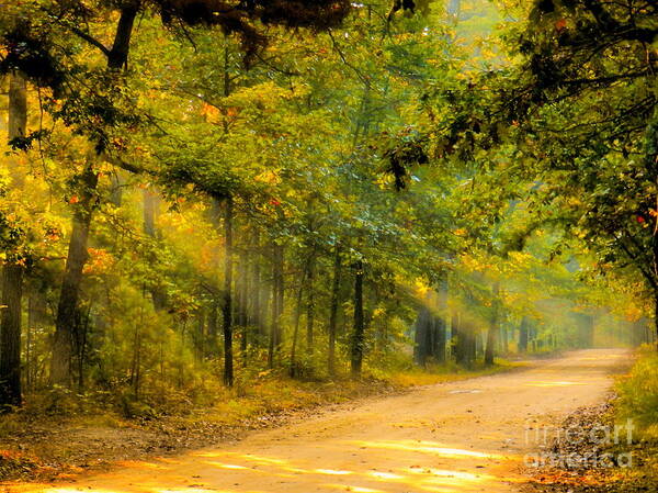
[[[123,464],[47,493],[508,492],[542,440],[529,427],[599,402],[621,349],[575,351],[527,370],[338,406],[314,419],[175,459]],[[13,490],[13,489],[12,489]]]

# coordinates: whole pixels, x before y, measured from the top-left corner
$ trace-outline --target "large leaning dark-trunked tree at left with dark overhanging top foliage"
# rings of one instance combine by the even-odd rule
[[[123,99],[122,90],[127,88],[127,67],[134,22],[138,13],[155,9],[169,25],[219,26],[226,34],[241,38],[245,61],[249,63],[266,45],[268,38],[259,32],[254,23],[284,25],[286,27],[328,29],[339,24],[350,10],[344,0],[314,1],[313,8],[298,2],[276,2],[239,4],[229,9],[213,1],[180,2],[169,0],[125,0],[82,5],[78,2],[56,2],[36,0],[34,5],[16,5],[0,18],[0,36],[7,53],[0,56],[0,72],[22,70],[23,74],[42,86],[53,90],[54,115],[65,123],[76,126],[87,135],[94,147],[89,154],[88,165],[77,177],[79,201],[73,211],[72,232],[68,257],[61,283],[57,309],[56,332],[53,343],[50,379],[53,383],[69,385],[71,381],[71,358],[79,343],[79,299],[82,270],[87,261],[87,247],[91,219],[99,194],[98,170],[95,167],[109,156],[110,128],[120,124],[136,123],[134,114],[121,115],[117,99]],[[36,15],[26,15],[30,12]],[[103,22],[107,12],[116,12],[113,43],[105,46],[91,33],[92,22]],[[84,27],[79,27],[83,25]],[[105,29],[109,26],[105,24]],[[184,27],[183,27],[184,29]],[[82,42],[104,58],[107,70],[99,74],[92,64],[71,64],[71,42],[67,36]],[[58,40],[66,38],[68,46],[60,49]],[[72,65],[72,67],[71,67]],[[87,71],[84,83],[94,81],[97,87],[76,93],[72,87],[80,86],[78,74]],[[89,86],[89,85],[88,85]],[[88,87],[87,86],[87,87]],[[68,89],[67,99],[57,103],[57,97]],[[78,89],[80,90],[80,89]],[[88,97],[89,100],[86,100]],[[134,111],[134,109],[133,109]],[[104,125],[100,125],[102,122]],[[38,135],[37,135],[38,137]],[[111,159],[124,164],[122,160]],[[129,170],[136,168],[126,166]],[[213,193],[217,194],[216,191]]]

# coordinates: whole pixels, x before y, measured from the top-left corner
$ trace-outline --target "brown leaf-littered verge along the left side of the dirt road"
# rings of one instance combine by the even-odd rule
[[[405,371],[383,379],[303,382],[274,377],[213,407],[143,418],[103,412],[47,415],[34,411],[0,416],[0,481],[61,481],[126,461],[172,456],[230,444],[254,430],[288,426],[364,399],[401,394],[415,386],[458,381],[524,368],[501,361],[491,368]],[[43,405],[42,405],[43,407]]]

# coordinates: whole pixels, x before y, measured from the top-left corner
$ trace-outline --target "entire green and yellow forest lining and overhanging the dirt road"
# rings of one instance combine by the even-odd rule
[[[658,440],[656,70],[653,0],[0,1],[0,418],[622,347]]]

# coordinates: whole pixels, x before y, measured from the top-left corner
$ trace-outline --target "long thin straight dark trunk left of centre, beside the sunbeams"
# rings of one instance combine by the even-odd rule
[[[224,332],[224,384],[234,384],[232,360],[232,199],[224,204],[224,304],[222,306]]]

